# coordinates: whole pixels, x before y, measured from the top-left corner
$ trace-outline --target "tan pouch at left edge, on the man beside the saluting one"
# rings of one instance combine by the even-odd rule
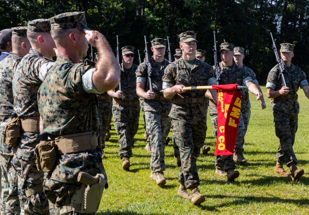
[[[16,116],[9,120],[2,130],[2,141],[5,145],[16,147],[20,140],[21,122]]]

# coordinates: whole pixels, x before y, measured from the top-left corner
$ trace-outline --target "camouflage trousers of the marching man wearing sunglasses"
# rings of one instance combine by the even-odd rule
[[[116,133],[119,136],[119,157],[132,157],[132,142],[138,131],[139,113],[141,107],[113,105],[113,118]]]

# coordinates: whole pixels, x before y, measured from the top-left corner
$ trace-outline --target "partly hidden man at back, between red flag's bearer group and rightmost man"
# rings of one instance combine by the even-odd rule
[[[243,67],[245,70],[248,71],[248,73],[250,74],[250,77],[252,78],[252,82],[261,91],[260,86],[259,86],[259,82],[256,80],[256,74],[252,71],[252,69],[243,65],[243,58],[245,57],[243,51],[244,51],[244,48],[242,48],[242,47],[235,47],[234,48],[235,64],[240,66],[240,67]],[[262,105],[262,109],[266,108],[265,101],[264,101],[263,97],[261,98],[261,105]],[[243,124],[245,126],[244,131],[243,131],[244,136],[246,136],[248,125],[249,125],[250,114],[251,114],[250,108],[251,108],[251,104],[250,104],[250,100],[249,100],[249,90],[248,90],[248,88],[245,88],[241,91],[241,107],[240,107],[241,114],[243,115]]]

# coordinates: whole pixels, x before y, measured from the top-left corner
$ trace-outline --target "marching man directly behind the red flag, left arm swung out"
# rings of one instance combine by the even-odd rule
[[[256,85],[252,83],[252,78],[247,70],[244,70],[242,67],[239,67],[233,63],[235,46],[231,43],[222,43],[220,46],[221,59],[219,66],[221,69],[220,83],[219,84],[235,84],[246,83],[249,87],[250,92],[253,92],[258,99],[261,97],[261,92],[257,89]],[[218,123],[218,112],[217,107],[212,105],[213,101],[210,100],[210,118],[213,123],[214,136],[217,138],[217,123]],[[233,156],[235,154],[239,157],[237,162],[247,162],[243,158],[243,144],[244,144],[244,124],[243,117],[240,112],[239,115],[239,124],[237,129],[236,144],[234,149],[234,155],[216,155],[215,158],[215,167],[216,174],[221,177],[227,176],[229,181],[234,181],[235,178],[239,176],[238,171],[234,171],[236,168],[235,162],[233,161]],[[225,174],[224,172],[227,172]]]

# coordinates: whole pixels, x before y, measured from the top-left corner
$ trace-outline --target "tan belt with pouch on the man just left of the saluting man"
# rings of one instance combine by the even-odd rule
[[[11,113],[11,119],[5,124],[2,130],[2,142],[10,147],[19,144],[20,132],[40,133],[40,117],[21,117]]]

